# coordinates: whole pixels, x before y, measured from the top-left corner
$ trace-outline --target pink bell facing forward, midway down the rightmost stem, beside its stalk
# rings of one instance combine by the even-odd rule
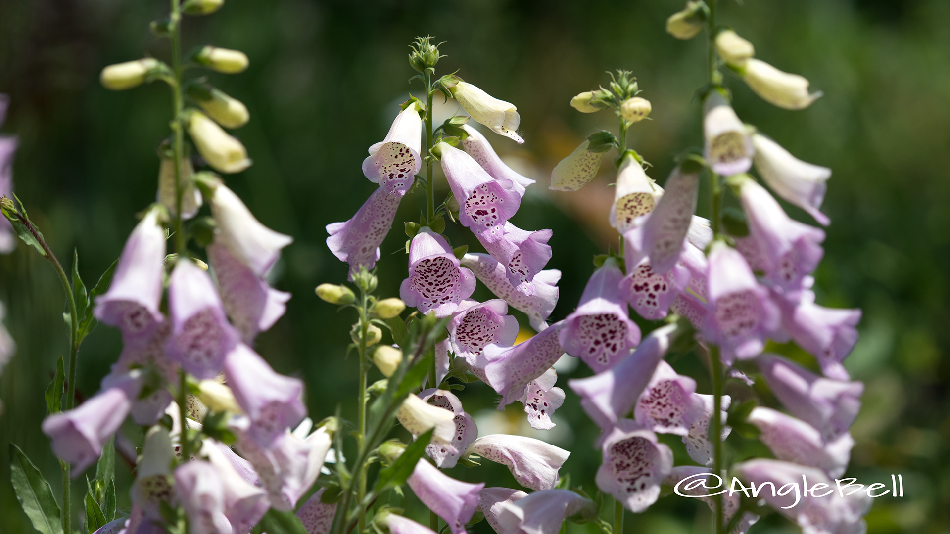
[[[709,314],[703,336],[719,345],[722,361],[749,359],[762,353],[765,340],[779,326],[778,307],[759,285],[746,258],[724,242],[712,244],[709,257]]]

